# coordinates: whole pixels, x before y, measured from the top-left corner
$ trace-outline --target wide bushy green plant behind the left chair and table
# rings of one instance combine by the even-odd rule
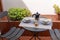
[[[31,16],[31,13],[26,8],[10,8],[8,16],[12,20],[22,20],[24,17]]]

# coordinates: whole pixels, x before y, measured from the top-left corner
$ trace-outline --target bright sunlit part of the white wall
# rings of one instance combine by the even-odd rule
[[[55,14],[53,5],[60,6],[60,0],[23,0],[32,13]]]

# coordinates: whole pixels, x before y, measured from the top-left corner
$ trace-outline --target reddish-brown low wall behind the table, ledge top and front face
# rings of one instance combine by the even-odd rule
[[[60,29],[60,21],[58,20],[58,16],[57,15],[43,15],[44,17],[50,18],[53,20],[53,29]],[[2,18],[2,20],[0,20],[0,30],[2,30],[2,33],[6,33],[12,26],[16,26],[19,27],[19,21],[10,21],[8,22],[7,17]],[[21,27],[20,27],[21,28]],[[28,33],[30,33],[30,31],[25,31],[26,35]],[[31,32],[32,33],[32,32]],[[30,34],[31,34],[30,33]],[[44,31],[44,32],[40,32],[40,34],[43,36],[49,36],[49,31]]]

